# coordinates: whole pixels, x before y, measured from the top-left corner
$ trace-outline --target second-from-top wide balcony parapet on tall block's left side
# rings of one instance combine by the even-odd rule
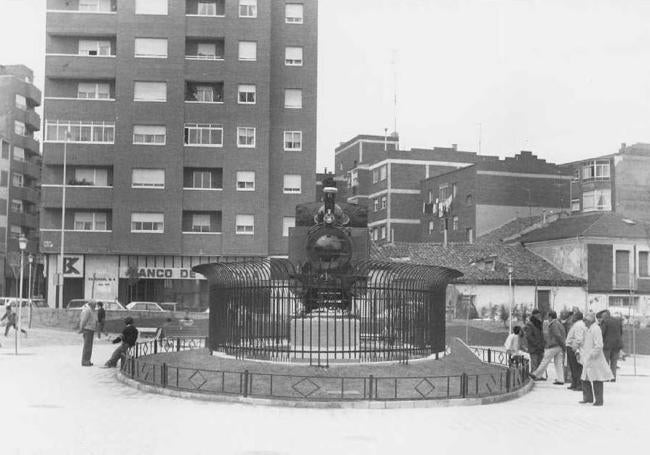
[[[46,54],[46,77],[61,79],[115,79],[115,56]]]

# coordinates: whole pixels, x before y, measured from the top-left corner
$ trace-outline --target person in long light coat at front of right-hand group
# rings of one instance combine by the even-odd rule
[[[579,351],[579,360],[582,364],[582,401],[580,403],[593,403],[594,406],[603,405],[603,382],[614,378],[609,369],[605,354],[603,354],[603,334],[600,326],[595,323],[594,313],[587,313],[584,317],[587,332],[585,341]],[[593,385],[593,388],[592,388]],[[594,400],[595,398],[595,400]]]

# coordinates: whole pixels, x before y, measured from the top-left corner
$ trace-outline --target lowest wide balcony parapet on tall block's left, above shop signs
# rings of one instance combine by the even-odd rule
[[[67,253],[109,253],[113,233],[110,231],[65,231],[65,251]],[[61,249],[59,229],[41,229],[41,253],[58,253]]]

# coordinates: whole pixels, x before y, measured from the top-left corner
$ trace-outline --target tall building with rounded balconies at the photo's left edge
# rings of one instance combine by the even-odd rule
[[[41,118],[34,108],[40,104],[31,69],[0,65],[0,295],[18,294],[18,238],[27,238],[27,253],[38,251],[41,165],[34,133],[41,129]]]

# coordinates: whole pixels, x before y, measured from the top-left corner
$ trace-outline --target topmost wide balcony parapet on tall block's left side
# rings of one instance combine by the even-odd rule
[[[97,36],[117,33],[115,12],[48,11],[47,33],[50,35]]]

